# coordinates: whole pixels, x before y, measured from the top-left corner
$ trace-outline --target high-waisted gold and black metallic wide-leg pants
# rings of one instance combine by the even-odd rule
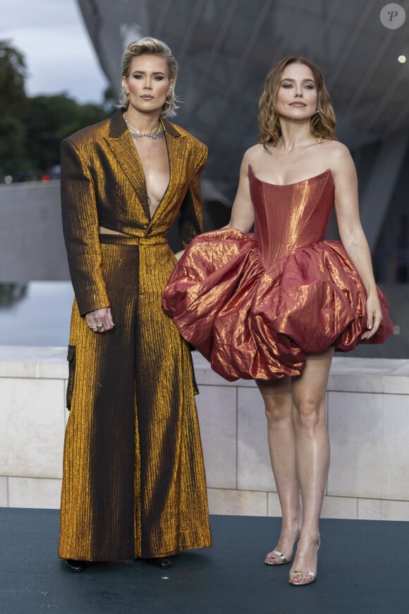
[[[187,344],[161,310],[166,239],[102,235],[116,324],[97,334],[74,303],[59,555],[159,557],[211,545]]]

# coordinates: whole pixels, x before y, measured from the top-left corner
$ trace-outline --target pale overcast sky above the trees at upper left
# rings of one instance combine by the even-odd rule
[[[0,39],[25,56],[29,96],[102,101],[106,79],[76,0],[0,0]]]

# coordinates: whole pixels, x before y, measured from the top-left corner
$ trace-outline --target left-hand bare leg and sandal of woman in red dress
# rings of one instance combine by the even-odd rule
[[[281,534],[274,546],[290,561],[294,543],[300,533],[300,484],[295,468],[295,431],[291,398],[291,380],[257,381],[267,416],[267,433],[271,466],[276,481],[282,513]],[[279,555],[269,553],[266,562],[282,562]]]

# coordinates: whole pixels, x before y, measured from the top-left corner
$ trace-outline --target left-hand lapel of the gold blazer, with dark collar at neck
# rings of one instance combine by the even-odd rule
[[[106,143],[111,149],[119,166],[128,177],[140,201],[145,215],[150,219],[149,204],[147,201],[145,175],[138,152],[132,142],[132,137],[123,121],[121,111],[118,111],[111,119],[109,136],[105,137]]]

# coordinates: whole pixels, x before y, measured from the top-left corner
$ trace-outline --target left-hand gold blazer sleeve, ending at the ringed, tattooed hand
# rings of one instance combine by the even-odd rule
[[[80,315],[109,307],[102,274],[94,181],[86,155],[61,143],[61,212],[68,266]]]

